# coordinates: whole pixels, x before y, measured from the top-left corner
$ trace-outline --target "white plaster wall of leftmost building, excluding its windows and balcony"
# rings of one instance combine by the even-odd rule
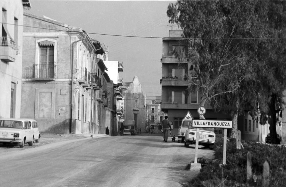
[[[7,30],[11,37],[14,37],[14,17],[18,19],[18,25],[23,25],[23,4],[22,1],[0,1],[0,10],[6,10]],[[2,13],[0,14],[2,21]],[[2,36],[2,30],[1,36]],[[0,61],[0,117],[10,118],[11,108],[11,85],[15,83],[14,104],[12,117],[19,118],[21,110],[21,69],[22,69],[22,45],[23,45],[23,27],[18,27],[18,38],[15,39],[16,45],[19,46],[18,54],[12,56],[15,62]]]

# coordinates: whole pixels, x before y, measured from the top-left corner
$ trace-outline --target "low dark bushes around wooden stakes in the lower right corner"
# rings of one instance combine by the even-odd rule
[[[270,185],[286,185],[286,148],[255,142],[243,141],[244,149],[236,149],[236,140],[227,141],[226,165],[220,166],[223,160],[223,138],[217,138],[215,160],[198,158],[202,164],[201,172],[190,181],[190,186],[262,186],[263,164],[269,164]],[[246,182],[247,152],[251,153],[252,173],[256,176],[249,184]]]

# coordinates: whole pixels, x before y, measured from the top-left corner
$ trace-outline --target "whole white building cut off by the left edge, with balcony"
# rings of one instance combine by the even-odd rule
[[[23,10],[28,0],[0,1],[0,118],[20,118]]]

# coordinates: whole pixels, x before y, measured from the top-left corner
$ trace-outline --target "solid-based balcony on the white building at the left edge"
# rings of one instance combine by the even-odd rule
[[[9,37],[0,37],[0,58],[5,62],[15,62],[20,47]]]

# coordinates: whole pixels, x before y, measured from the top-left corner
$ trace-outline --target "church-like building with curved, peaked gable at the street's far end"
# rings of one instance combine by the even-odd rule
[[[137,76],[132,82],[125,82],[121,87],[124,97],[124,120],[134,120],[137,132],[145,129],[146,119],[146,94],[142,89]]]

